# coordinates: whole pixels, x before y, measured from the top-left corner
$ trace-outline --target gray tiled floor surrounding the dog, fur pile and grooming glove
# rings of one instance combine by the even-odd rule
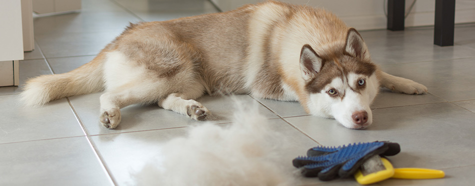
[[[35,50],[20,61],[20,84],[41,74],[70,71],[93,58],[128,22],[165,20],[216,12],[207,0],[82,0],[80,13],[34,19]],[[184,5],[183,5],[184,4]],[[473,185],[475,182],[475,24],[455,26],[455,45],[432,44],[431,27],[392,32],[360,32],[373,60],[386,72],[427,86],[425,95],[383,90],[372,105],[374,124],[350,130],[335,120],[308,116],[298,103],[258,101],[273,130],[291,139],[282,152],[291,172],[292,157],[317,145],[390,140],[401,153],[396,168],[441,169],[440,180],[387,180],[377,185]],[[0,88],[0,185],[133,185],[131,172],[153,156],[154,149],[189,126],[200,125],[158,106],[122,109],[115,130],[98,123],[100,93],[53,101],[40,108],[17,103],[16,87]],[[203,97],[215,116],[229,122],[232,101]],[[298,179],[297,185],[357,185],[352,179],[322,183]]]

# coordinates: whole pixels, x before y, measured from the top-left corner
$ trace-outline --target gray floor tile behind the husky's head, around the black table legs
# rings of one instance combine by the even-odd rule
[[[475,31],[475,27],[461,27],[455,30],[472,37],[468,32]],[[470,39],[464,40],[466,43],[462,45],[457,43],[455,46],[446,47],[434,45],[432,27],[409,28],[404,31],[361,31],[361,36],[368,46],[371,59],[376,64],[475,57],[474,48],[469,47],[469,43],[475,42]]]

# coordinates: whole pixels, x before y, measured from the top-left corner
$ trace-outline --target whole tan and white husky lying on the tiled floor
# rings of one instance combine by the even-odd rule
[[[250,94],[298,101],[315,116],[363,129],[379,87],[427,92],[412,80],[382,72],[359,33],[318,8],[268,1],[169,21],[130,24],[89,63],[27,81],[22,100],[51,100],[105,90],[99,121],[120,123],[120,108],[136,103],[205,120],[194,99]]]

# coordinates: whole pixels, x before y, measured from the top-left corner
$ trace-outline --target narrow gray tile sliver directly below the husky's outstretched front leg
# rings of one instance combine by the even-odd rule
[[[371,104],[371,108],[398,107],[439,102],[446,101],[432,94],[408,95],[394,93],[388,89],[381,89],[374,99],[374,102]]]

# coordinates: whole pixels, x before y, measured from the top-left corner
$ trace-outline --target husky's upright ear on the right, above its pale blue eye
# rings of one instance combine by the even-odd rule
[[[354,28],[349,28],[346,34],[345,51],[353,57],[359,57],[365,61],[371,60],[368,47],[361,35]]]

